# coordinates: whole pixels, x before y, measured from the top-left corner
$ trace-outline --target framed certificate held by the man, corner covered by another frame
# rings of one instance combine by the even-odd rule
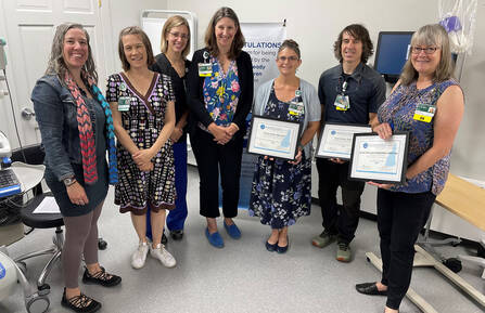
[[[320,135],[316,157],[350,159],[354,133],[372,132],[369,125],[327,122]]]

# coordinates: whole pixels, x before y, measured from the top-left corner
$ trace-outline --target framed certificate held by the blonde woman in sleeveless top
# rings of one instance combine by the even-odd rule
[[[376,183],[406,181],[409,134],[395,132],[383,140],[375,133],[356,133],[348,178]]]

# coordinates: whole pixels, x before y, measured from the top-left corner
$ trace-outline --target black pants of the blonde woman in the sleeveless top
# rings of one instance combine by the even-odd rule
[[[426,223],[435,195],[378,191],[382,279],[388,287],[386,305],[398,310],[411,283],[414,243]]]

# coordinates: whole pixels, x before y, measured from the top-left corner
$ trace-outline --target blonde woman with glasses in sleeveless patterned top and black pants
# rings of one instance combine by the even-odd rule
[[[448,35],[439,25],[421,27],[411,39],[411,55],[390,97],[379,108],[382,139],[409,132],[406,183],[375,184],[381,237],[382,279],[356,285],[366,295],[387,296],[385,312],[398,312],[414,257],[413,245],[449,170],[450,151],[463,115],[463,92],[451,78]]]

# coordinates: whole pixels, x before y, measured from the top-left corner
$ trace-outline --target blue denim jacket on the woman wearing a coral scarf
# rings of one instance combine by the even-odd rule
[[[46,149],[47,169],[59,181],[74,175],[71,164],[82,164],[74,97],[58,76],[46,75],[37,80],[31,101]]]

